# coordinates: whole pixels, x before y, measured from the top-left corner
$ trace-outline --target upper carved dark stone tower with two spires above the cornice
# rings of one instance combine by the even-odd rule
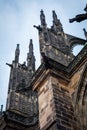
[[[55,13],[55,11],[53,11],[53,26],[51,28],[47,28],[45,15],[42,10],[40,19],[41,26],[34,27],[36,27],[39,31],[41,61],[43,62],[43,56],[45,55],[59,63],[68,66],[74,58],[71,50],[71,46],[74,43],[73,39],[75,39],[76,43],[80,42],[81,44],[85,44],[86,41],[82,40],[81,42],[81,39],[65,34],[62,24],[57,18],[57,14]],[[56,53],[57,55],[55,54],[55,50],[56,52],[58,52]]]

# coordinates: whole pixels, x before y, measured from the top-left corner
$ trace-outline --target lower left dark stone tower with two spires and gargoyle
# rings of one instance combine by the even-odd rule
[[[35,73],[35,57],[33,43],[30,40],[27,53],[27,65],[19,63],[19,44],[15,50],[15,58],[11,68],[6,111],[3,114],[3,123],[0,130],[34,130],[38,121],[37,92],[31,86],[32,76]],[[3,119],[2,118],[2,119]],[[33,127],[32,127],[33,125]]]

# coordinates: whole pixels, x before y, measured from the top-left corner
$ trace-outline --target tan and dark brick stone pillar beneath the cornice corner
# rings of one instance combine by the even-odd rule
[[[41,78],[45,76],[41,75]],[[43,80],[37,79],[35,83],[40,130],[80,130],[65,81],[60,80],[49,74]]]

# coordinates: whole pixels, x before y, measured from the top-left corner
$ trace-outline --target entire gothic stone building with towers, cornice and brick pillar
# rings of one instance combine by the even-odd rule
[[[47,27],[43,10],[38,29],[41,65],[35,70],[30,40],[27,65],[19,63],[19,45],[11,67],[7,106],[0,130],[86,130],[86,40],[66,34],[55,11]],[[77,56],[72,49],[84,45]],[[16,125],[15,125],[16,124]]]

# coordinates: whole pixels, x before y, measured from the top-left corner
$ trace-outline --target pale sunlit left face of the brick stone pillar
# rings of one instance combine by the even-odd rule
[[[39,124],[40,129],[50,122],[52,123],[54,119],[54,104],[52,95],[52,86],[50,79],[46,81],[42,87],[39,88],[39,93],[42,92],[38,97],[39,102]]]

